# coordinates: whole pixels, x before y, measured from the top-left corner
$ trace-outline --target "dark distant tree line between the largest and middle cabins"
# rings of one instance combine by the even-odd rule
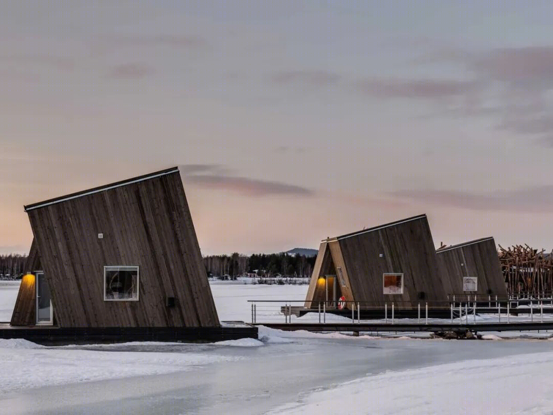
[[[286,255],[285,253],[254,253],[251,256],[210,255],[204,257],[208,275],[239,277],[255,273],[258,277],[311,277],[316,257]]]

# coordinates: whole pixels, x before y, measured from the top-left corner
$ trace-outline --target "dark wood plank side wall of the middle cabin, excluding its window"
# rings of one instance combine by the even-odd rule
[[[440,278],[426,215],[337,237],[336,242],[328,243],[339,245],[333,250],[332,260],[335,265],[343,263],[345,268],[347,300],[351,297],[365,303],[365,307],[391,302],[397,307],[416,307],[426,300],[447,299],[450,285]],[[384,273],[403,273],[403,294],[383,293]],[[419,293],[424,293],[424,300],[419,299]]]

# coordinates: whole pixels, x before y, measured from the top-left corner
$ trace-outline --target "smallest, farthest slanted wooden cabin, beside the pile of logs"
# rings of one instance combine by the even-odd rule
[[[507,297],[493,237],[445,246],[436,250],[436,255],[442,279],[451,283],[448,294]]]

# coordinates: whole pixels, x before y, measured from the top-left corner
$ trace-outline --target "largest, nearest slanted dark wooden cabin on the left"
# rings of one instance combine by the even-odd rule
[[[219,327],[178,168],[25,206],[12,325]]]

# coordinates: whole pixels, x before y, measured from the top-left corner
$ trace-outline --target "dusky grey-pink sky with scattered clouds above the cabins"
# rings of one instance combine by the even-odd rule
[[[421,213],[553,248],[552,2],[1,3],[0,253],[24,204],[174,165],[204,255]]]

